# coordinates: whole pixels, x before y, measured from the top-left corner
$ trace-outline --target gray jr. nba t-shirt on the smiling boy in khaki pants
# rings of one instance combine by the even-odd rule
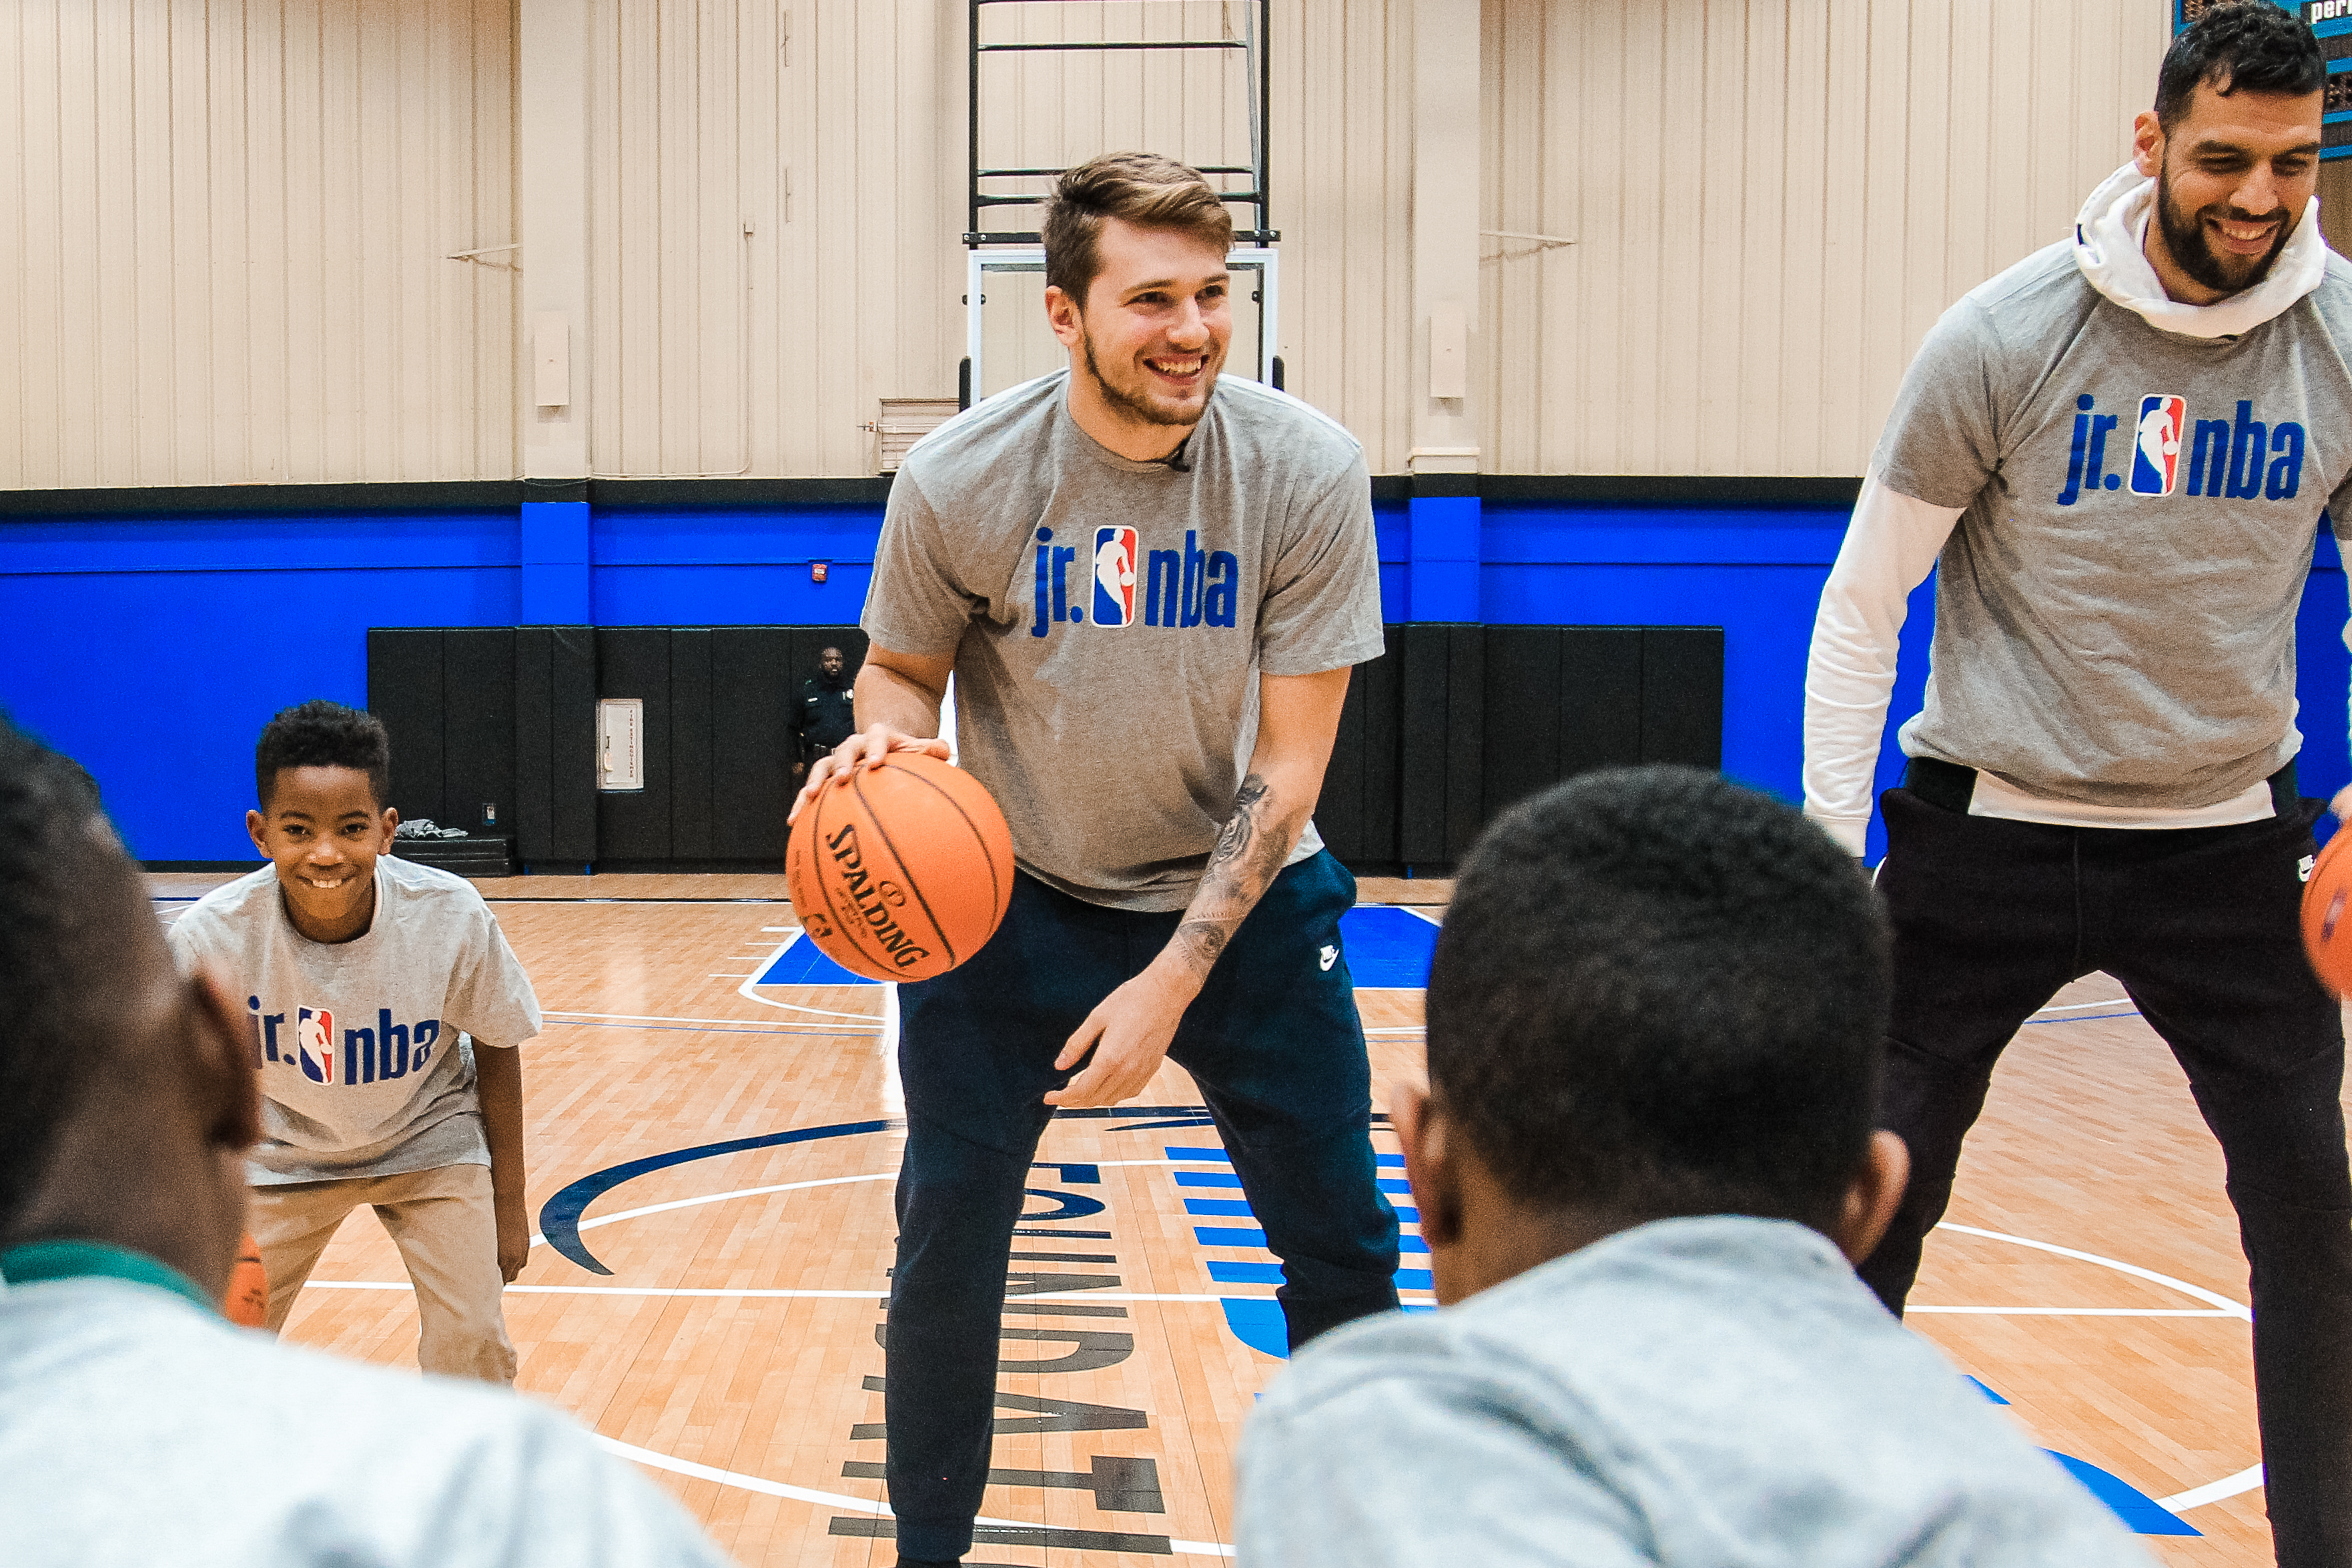
[[[489,1164],[459,1034],[520,1046],[539,1034],[539,997],[463,877],[381,856],[367,931],[313,943],[263,865],[181,914],[172,950],[181,966],[212,964],[245,1004],[256,1187]]]

